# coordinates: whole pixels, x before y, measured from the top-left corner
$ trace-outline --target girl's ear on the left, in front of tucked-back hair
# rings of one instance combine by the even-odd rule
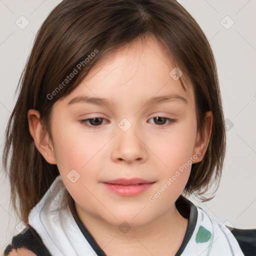
[[[50,140],[48,131],[44,135],[45,130],[40,120],[40,113],[35,109],[29,109],[27,118],[29,131],[36,148],[48,163],[56,164],[52,141]]]

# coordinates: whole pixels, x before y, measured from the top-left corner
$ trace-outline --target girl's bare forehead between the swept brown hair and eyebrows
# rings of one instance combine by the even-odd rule
[[[68,99],[86,94],[112,101],[114,98],[127,100],[131,95],[151,98],[173,93],[193,104],[191,86],[185,85],[187,92],[182,88],[182,77],[174,79],[175,68],[159,41],[152,37],[146,41],[138,39],[96,63]]]

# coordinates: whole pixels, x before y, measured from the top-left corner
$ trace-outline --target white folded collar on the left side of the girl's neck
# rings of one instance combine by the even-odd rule
[[[65,189],[58,175],[30,211],[28,223],[53,256],[93,256],[95,252],[75,223],[68,205],[61,205]]]

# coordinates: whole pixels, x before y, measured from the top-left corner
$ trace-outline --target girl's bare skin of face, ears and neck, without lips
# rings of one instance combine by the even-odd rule
[[[44,158],[57,164],[64,185],[75,200],[77,214],[107,255],[174,255],[188,220],[175,201],[188,180],[191,165],[158,197],[149,201],[179,166],[196,152],[202,160],[212,126],[212,113],[205,115],[204,132],[196,130],[195,99],[190,84],[187,92],[180,79],[169,72],[174,68],[163,47],[154,38],[123,46],[91,69],[84,80],[52,108],[50,140],[43,135],[39,112],[28,111],[29,130]],[[149,105],[148,99],[175,93],[187,100],[171,100]],[[107,98],[108,105],[76,102],[75,96]],[[157,121],[153,117],[168,119]],[[104,118],[102,124],[81,119]],[[118,123],[126,118],[127,131]],[[67,178],[75,169],[80,178]],[[136,196],[112,193],[102,181],[119,177],[139,177],[155,183]],[[118,226],[126,221],[130,230]]]

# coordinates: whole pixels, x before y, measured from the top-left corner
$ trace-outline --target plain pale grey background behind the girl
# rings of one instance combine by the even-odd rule
[[[14,90],[34,35],[50,10],[59,2],[0,0],[1,154],[4,130],[15,102]],[[199,23],[210,41],[216,58],[227,129],[227,153],[215,197],[205,203],[190,199],[216,221],[237,228],[256,228],[256,1],[179,2]],[[29,21],[24,29],[15,23],[16,20],[21,23],[22,15]],[[24,19],[22,24],[25,24]],[[17,233],[15,225],[20,221],[9,207],[8,180],[3,178],[2,172],[1,177],[0,254]]]

